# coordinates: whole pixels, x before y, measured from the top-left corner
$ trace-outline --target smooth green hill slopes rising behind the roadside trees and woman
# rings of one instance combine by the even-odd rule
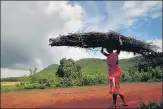
[[[119,64],[124,72],[128,71],[134,65],[134,62],[129,62],[130,59],[121,59],[119,60]],[[107,74],[107,64],[105,59],[97,59],[97,58],[85,58],[76,61],[78,65],[80,65],[85,72],[88,74],[93,74],[98,72]],[[52,64],[42,71],[38,72],[38,74],[55,74],[57,71],[58,65]]]

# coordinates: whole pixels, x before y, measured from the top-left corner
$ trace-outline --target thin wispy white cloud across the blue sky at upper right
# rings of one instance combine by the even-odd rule
[[[160,15],[162,9],[162,1],[124,1],[124,2],[113,2],[105,1],[106,15],[100,12],[100,9],[92,4],[91,10],[97,16],[89,16],[89,13],[85,13],[85,19],[91,24],[92,30],[108,31],[108,30],[119,30],[122,28],[129,28],[132,26],[139,25],[140,17],[146,19],[146,17],[161,18]],[[157,14],[156,14],[157,13]],[[159,13],[159,14],[158,14]],[[107,17],[107,19],[104,19]],[[100,19],[100,20],[99,20]],[[103,22],[101,22],[103,21]]]

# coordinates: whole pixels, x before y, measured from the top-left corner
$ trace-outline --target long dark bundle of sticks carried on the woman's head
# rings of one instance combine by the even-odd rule
[[[119,44],[121,37],[123,45]],[[155,54],[157,47],[141,40],[126,37],[117,32],[87,32],[61,35],[57,38],[49,39],[50,46],[73,46],[81,48],[111,48],[122,51],[134,52],[142,55]]]

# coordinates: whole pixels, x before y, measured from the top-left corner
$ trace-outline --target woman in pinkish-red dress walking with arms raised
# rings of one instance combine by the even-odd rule
[[[122,40],[119,37],[120,45],[122,45]],[[123,91],[120,88],[120,79],[122,77],[122,71],[120,66],[118,65],[118,55],[120,50],[117,52],[113,52],[113,49],[107,49],[107,53],[101,49],[101,53],[107,57],[107,65],[108,65],[108,74],[109,74],[109,81],[110,81],[110,91],[109,93],[113,95],[113,106],[116,107],[116,100],[117,95],[119,95],[123,101],[123,106],[128,106],[124,100]]]

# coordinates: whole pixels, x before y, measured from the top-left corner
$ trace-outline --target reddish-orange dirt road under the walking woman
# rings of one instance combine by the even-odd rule
[[[162,83],[121,84],[121,88],[127,108],[139,106],[140,99],[162,100]],[[2,93],[1,108],[108,108],[112,103],[108,90],[108,86],[87,86]]]

